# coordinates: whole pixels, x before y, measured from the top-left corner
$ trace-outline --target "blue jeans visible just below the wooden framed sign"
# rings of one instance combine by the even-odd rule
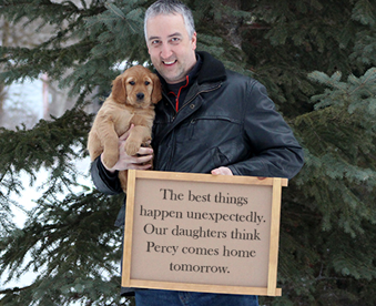
[[[258,306],[255,295],[135,290],[136,306]]]

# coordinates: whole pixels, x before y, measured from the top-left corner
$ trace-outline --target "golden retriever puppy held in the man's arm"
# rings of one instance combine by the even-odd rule
[[[119,136],[134,124],[124,149],[128,155],[138,153],[151,140],[155,116],[154,104],[162,99],[161,81],[148,68],[135,65],[112,82],[112,92],[99,110],[88,139],[91,161],[100,154],[106,167],[119,160]],[[122,149],[120,149],[122,150]],[[122,188],[126,191],[126,171],[119,172]]]

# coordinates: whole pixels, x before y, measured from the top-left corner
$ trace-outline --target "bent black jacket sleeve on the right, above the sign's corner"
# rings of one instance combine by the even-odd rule
[[[256,153],[248,160],[230,165],[230,169],[234,175],[292,178],[303,166],[303,149],[275,110],[265,86],[251,80],[244,101],[243,131]]]

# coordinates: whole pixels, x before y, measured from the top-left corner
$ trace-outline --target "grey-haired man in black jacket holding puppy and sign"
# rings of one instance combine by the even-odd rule
[[[163,99],[156,104],[152,149],[141,156],[122,150],[113,169],[93,162],[96,187],[121,192],[116,171],[144,170],[154,155],[154,170],[292,178],[303,165],[302,147],[274,110],[257,81],[226,70],[206,52],[196,52],[192,12],[179,1],[160,0],[145,13],[145,40],[151,61],[162,81]],[[118,225],[124,222],[124,208]],[[126,288],[122,288],[125,294]],[[138,306],[248,305],[256,296],[136,289]]]

